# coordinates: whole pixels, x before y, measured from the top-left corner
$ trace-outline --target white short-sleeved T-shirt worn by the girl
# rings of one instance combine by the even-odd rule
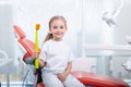
[[[39,58],[46,62],[43,72],[53,74],[62,73],[67,69],[68,62],[74,60],[68,45],[52,39],[43,45]]]

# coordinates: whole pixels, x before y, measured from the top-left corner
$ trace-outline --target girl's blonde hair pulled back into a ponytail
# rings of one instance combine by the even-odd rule
[[[51,27],[51,23],[55,21],[55,20],[61,20],[61,21],[63,21],[64,22],[64,25],[66,25],[66,28],[67,28],[67,21],[66,21],[66,18],[63,17],[63,16],[52,16],[51,18],[50,18],[50,21],[49,21],[49,28]],[[51,39],[52,38],[52,34],[50,34],[50,33],[48,33],[47,34],[47,36],[46,36],[46,38],[45,38],[45,40],[44,40],[44,42],[46,42],[47,40],[49,40],[49,39]]]

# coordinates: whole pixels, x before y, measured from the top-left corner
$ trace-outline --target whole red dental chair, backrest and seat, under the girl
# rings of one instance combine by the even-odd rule
[[[23,61],[26,64],[32,64],[32,57],[33,52],[35,52],[35,45],[31,40],[26,39],[26,35],[24,32],[17,26],[13,26],[16,34],[20,36],[19,42],[25,48],[26,53],[23,57]],[[39,49],[40,50],[40,49]],[[84,72],[84,71],[72,71],[71,74],[75,76],[81,83],[85,86],[91,87],[130,87],[127,83],[122,79],[99,75],[92,72]],[[43,84],[43,79],[40,77],[39,84],[37,87],[45,87]]]

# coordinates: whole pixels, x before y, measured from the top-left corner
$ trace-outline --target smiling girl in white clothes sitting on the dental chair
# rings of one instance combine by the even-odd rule
[[[46,87],[84,87],[70,72],[74,59],[68,45],[63,42],[67,22],[62,16],[53,16],[39,55],[43,80]]]

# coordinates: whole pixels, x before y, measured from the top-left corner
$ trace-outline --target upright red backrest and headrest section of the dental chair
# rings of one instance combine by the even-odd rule
[[[16,33],[16,35],[19,36],[19,39],[17,39],[19,44],[26,50],[25,54],[23,55],[23,61],[26,64],[34,65],[34,60],[32,59],[32,55],[35,52],[35,44],[33,41],[26,39],[26,35],[21,29],[21,27],[14,25],[13,29]],[[39,49],[39,52],[40,52],[40,49]],[[34,76],[35,76],[34,84],[35,85],[37,84],[36,87],[45,87],[40,75],[41,75],[40,69],[38,69],[38,74],[36,73],[36,71],[34,72]]]

